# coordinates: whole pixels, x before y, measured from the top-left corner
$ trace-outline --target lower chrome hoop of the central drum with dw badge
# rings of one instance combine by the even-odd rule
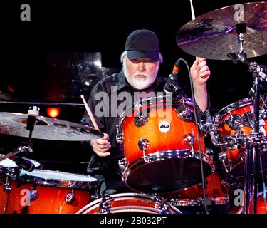
[[[142,165],[145,165],[147,163],[152,162],[158,162],[165,159],[171,159],[171,158],[195,158],[200,159],[199,154],[201,154],[203,157],[202,159],[204,162],[206,162],[210,167],[211,170],[215,170],[214,163],[212,162],[209,155],[204,154],[203,152],[194,151],[197,155],[192,155],[192,150],[184,149],[184,150],[162,150],[158,152],[154,152],[152,154],[149,154],[145,157],[139,157],[138,159],[131,162],[129,165],[125,167],[125,170],[122,171],[122,177],[124,180],[127,180],[127,177],[130,175],[132,170],[137,169],[137,167],[140,167]]]

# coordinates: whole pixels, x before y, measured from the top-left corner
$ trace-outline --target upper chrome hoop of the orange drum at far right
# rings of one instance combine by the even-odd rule
[[[230,105],[227,105],[226,107],[219,110],[219,112],[214,115],[214,122],[218,123],[219,120],[224,118],[224,116],[229,114],[229,112],[236,110],[238,108],[243,108],[246,105],[251,105],[252,103],[253,101],[251,98],[244,98],[242,100],[238,100],[234,103],[231,103]]]

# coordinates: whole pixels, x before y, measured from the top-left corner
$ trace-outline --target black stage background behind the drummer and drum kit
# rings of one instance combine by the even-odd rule
[[[194,0],[194,13],[197,17],[224,6],[246,2]],[[20,20],[20,6],[23,3],[31,6],[31,21]],[[79,58],[79,64],[84,69],[84,59],[77,55],[100,53],[103,68],[110,68],[110,71],[120,69],[120,54],[124,51],[125,40],[135,29],[147,28],[159,36],[164,56],[159,71],[162,76],[167,77],[172,72],[177,58],[184,58],[190,66],[194,61],[194,56],[182,51],[175,41],[179,28],[192,20],[189,0],[14,1],[4,4],[1,11],[4,19],[1,28],[0,89],[19,101],[16,104],[1,103],[1,111],[27,113],[31,101],[73,103],[61,105],[58,118],[79,122],[85,111],[83,105],[78,105],[81,100],[77,96],[62,95],[64,91],[66,93],[66,88],[70,88],[71,77],[77,73],[71,71],[71,64],[74,62],[75,67],[79,66],[75,62]],[[250,61],[267,64],[266,57],[259,56]],[[219,60],[207,62],[211,70],[208,88],[213,114],[230,103],[248,97],[253,78],[244,64],[234,65],[231,61]],[[51,71],[53,63],[60,70],[54,68]],[[179,73],[179,81],[189,85],[184,69],[182,67]],[[22,101],[28,104],[22,104]],[[40,114],[46,115],[47,105],[40,106]],[[0,145],[2,153],[25,140],[10,135],[3,138]],[[33,142],[34,154],[28,156],[39,161],[61,161],[73,167],[73,162],[86,162],[90,157],[81,149],[79,142]],[[59,170],[70,167],[66,169],[56,165]],[[80,170],[84,170],[83,167]]]

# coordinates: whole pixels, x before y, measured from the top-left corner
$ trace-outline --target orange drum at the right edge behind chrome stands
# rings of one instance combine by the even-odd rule
[[[267,109],[261,103],[260,130],[266,133],[267,130]],[[226,106],[219,113],[214,115],[214,123],[218,125],[219,138],[221,142],[226,142],[229,136],[235,136],[235,132],[241,131],[244,135],[251,133],[253,129],[253,100],[245,98],[236,103]],[[221,147],[223,162],[226,171],[234,177],[244,176],[245,147],[229,149]],[[267,167],[266,148],[261,154],[263,168]]]

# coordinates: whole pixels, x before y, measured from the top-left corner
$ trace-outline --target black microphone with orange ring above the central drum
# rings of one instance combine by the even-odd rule
[[[182,95],[182,88],[180,88],[177,80],[177,74],[179,73],[180,68],[180,61],[181,58],[179,58],[176,63],[174,64],[174,67],[172,69],[172,73],[169,75],[169,78],[167,79],[167,82],[164,86],[164,92],[167,95]]]

